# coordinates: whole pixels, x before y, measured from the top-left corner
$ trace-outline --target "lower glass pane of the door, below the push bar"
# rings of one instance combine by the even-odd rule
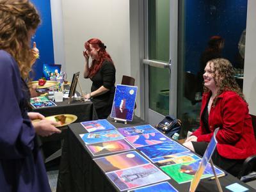
[[[149,108],[169,114],[169,70],[166,68],[148,67]]]

